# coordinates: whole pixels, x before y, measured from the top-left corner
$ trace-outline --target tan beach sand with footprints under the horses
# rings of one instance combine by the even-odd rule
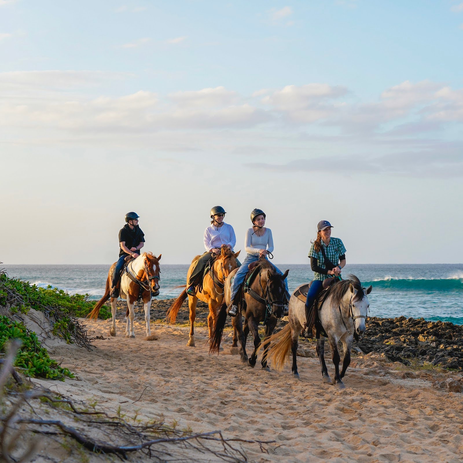
[[[122,313],[117,337],[108,336],[111,320],[82,322],[90,336],[104,337],[94,342],[93,351],[66,344],[49,349],[78,380],[35,381],[75,399],[93,397],[112,410],[120,406],[128,414],[139,410],[142,418],[163,416],[166,423],[176,421],[195,432],[221,430],[225,438],[276,441],[266,445],[268,453],[243,444],[252,462],[463,458],[463,396],[432,387],[436,375],[447,374],[415,373],[369,354],[352,359],[346,389],[337,390],[321,383],[315,343],[301,343],[304,357],[298,357],[296,380],[289,364],[282,373],[263,371],[260,363],[255,369],[243,365],[230,354],[230,331],[224,334],[224,351],[209,356],[205,327],[195,329],[193,348],[186,345],[189,328],[178,325],[152,324],[158,339],[144,341],[141,314],[135,339],[125,338]]]

